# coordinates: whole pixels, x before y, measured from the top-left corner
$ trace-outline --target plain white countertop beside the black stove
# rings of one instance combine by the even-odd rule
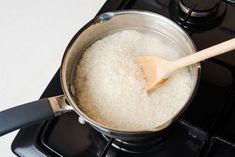
[[[73,35],[105,0],[0,0],[0,111],[40,97]],[[17,131],[0,137],[0,156]]]

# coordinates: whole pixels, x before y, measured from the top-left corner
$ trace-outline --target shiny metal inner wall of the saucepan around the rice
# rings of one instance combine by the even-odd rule
[[[120,11],[104,13],[93,19],[74,36],[66,49],[61,66],[62,87],[69,103],[85,121],[100,130],[107,132],[120,131],[122,133],[132,133],[125,130],[115,130],[109,126],[104,126],[83,113],[76,104],[77,101],[75,98],[75,89],[73,85],[73,80],[75,80],[76,65],[82,56],[82,52],[84,52],[95,41],[107,36],[108,34],[112,34],[123,29],[143,29],[161,33],[184,50],[182,51],[182,56],[195,53],[196,49],[191,39],[177,24],[161,15],[145,11]],[[192,89],[196,88],[198,81],[198,67],[198,64],[191,65],[189,67],[190,75],[193,81]],[[193,95],[193,92],[194,90],[191,91],[190,95]],[[189,99],[190,97],[188,100]],[[162,126],[158,126],[153,128],[153,130],[148,131],[158,131],[169,126],[186,105],[187,103],[175,116],[172,117],[171,120]],[[147,130],[138,132],[144,131]]]

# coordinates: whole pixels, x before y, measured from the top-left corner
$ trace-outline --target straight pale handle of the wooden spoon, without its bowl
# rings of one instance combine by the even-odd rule
[[[191,54],[189,56],[180,58],[176,61],[173,61],[171,67],[176,70],[178,68],[182,68],[200,62],[202,60],[223,54],[233,49],[235,49],[235,38],[227,40],[215,46],[211,46],[204,50],[198,51],[197,53]]]

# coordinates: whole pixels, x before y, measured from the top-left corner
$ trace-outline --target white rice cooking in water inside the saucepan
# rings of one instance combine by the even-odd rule
[[[96,41],[77,66],[79,107],[95,121],[118,130],[151,130],[165,123],[190,96],[190,73],[182,69],[147,94],[135,57],[156,55],[172,60],[182,56],[180,51],[160,34],[137,30],[119,31]]]

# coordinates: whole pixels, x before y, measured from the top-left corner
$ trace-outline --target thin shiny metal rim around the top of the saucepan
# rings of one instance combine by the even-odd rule
[[[75,42],[75,40],[80,36],[80,34],[85,31],[87,28],[89,28],[92,24],[96,24],[97,22],[101,21],[102,16],[107,15],[107,14],[111,14],[112,16],[116,16],[116,15],[123,15],[123,14],[141,14],[141,15],[148,15],[148,16],[152,16],[152,17],[157,17],[158,19],[167,21],[168,23],[170,23],[173,27],[177,28],[182,34],[184,34],[184,36],[187,38],[187,40],[191,43],[192,48],[195,50],[195,52],[197,52],[196,46],[194,44],[194,42],[192,41],[192,39],[188,36],[188,34],[180,27],[178,26],[175,22],[173,22],[171,19],[164,17],[162,15],[159,15],[157,13],[153,13],[153,12],[149,12],[149,11],[143,11],[143,10],[120,10],[120,11],[112,11],[112,12],[105,12],[102,13],[98,16],[96,16],[95,18],[93,18],[91,21],[89,21],[85,26],[83,26],[74,36],[73,38],[70,40],[68,46],[65,49],[63,58],[62,58],[62,62],[61,62],[61,69],[60,69],[60,80],[61,80],[61,86],[64,92],[64,95],[67,99],[67,101],[69,102],[69,104],[74,108],[75,112],[82,118],[84,119],[87,123],[89,123],[90,125],[94,126],[95,128],[102,130],[104,132],[115,132],[115,133],[120,133],[120,134],[146,134],[146,133],[152,133],[152,132],[157,132],[160,130],[163,130],[165,128],[167,128],[170,124],[172,124],[172,122],[174,122],[181,114],[182,112],[188,107],[188,105],[190,104],[190,102],[192,101],[199,82],[200,82],[200,76],[201,76],[201,65],[200,63],[195,64],[196,66],[196,70],[197,70],[197,78],[196,78],[196,83],[194,84],[194,90],[192,90],[191,96],[189,96],[188,100],[186,101],[186,103],[182,106],[182,108],[171,118],[169,119],[167,122],[165,122],[162,125],[157,126],[156,128],[153,128],[153,130],[151,129],[146,129],[146,130],[136,130],[136,131],[129,131],[129,130],[117,130],[115,128],[112,127],[108,127],[106,125],[103,125],[95,120],[93,120],[92,118],[90,118],[89,116],[87,116],[83,111],[81,111],[79,109],[79,107],[76,105],[76,102],[73,100],[70,92],[69,92],[69,85],[67,84],[66,81],[66,63],[69,62],[68,60],[68,54],[69,51],[73,45],[73,43]]]

